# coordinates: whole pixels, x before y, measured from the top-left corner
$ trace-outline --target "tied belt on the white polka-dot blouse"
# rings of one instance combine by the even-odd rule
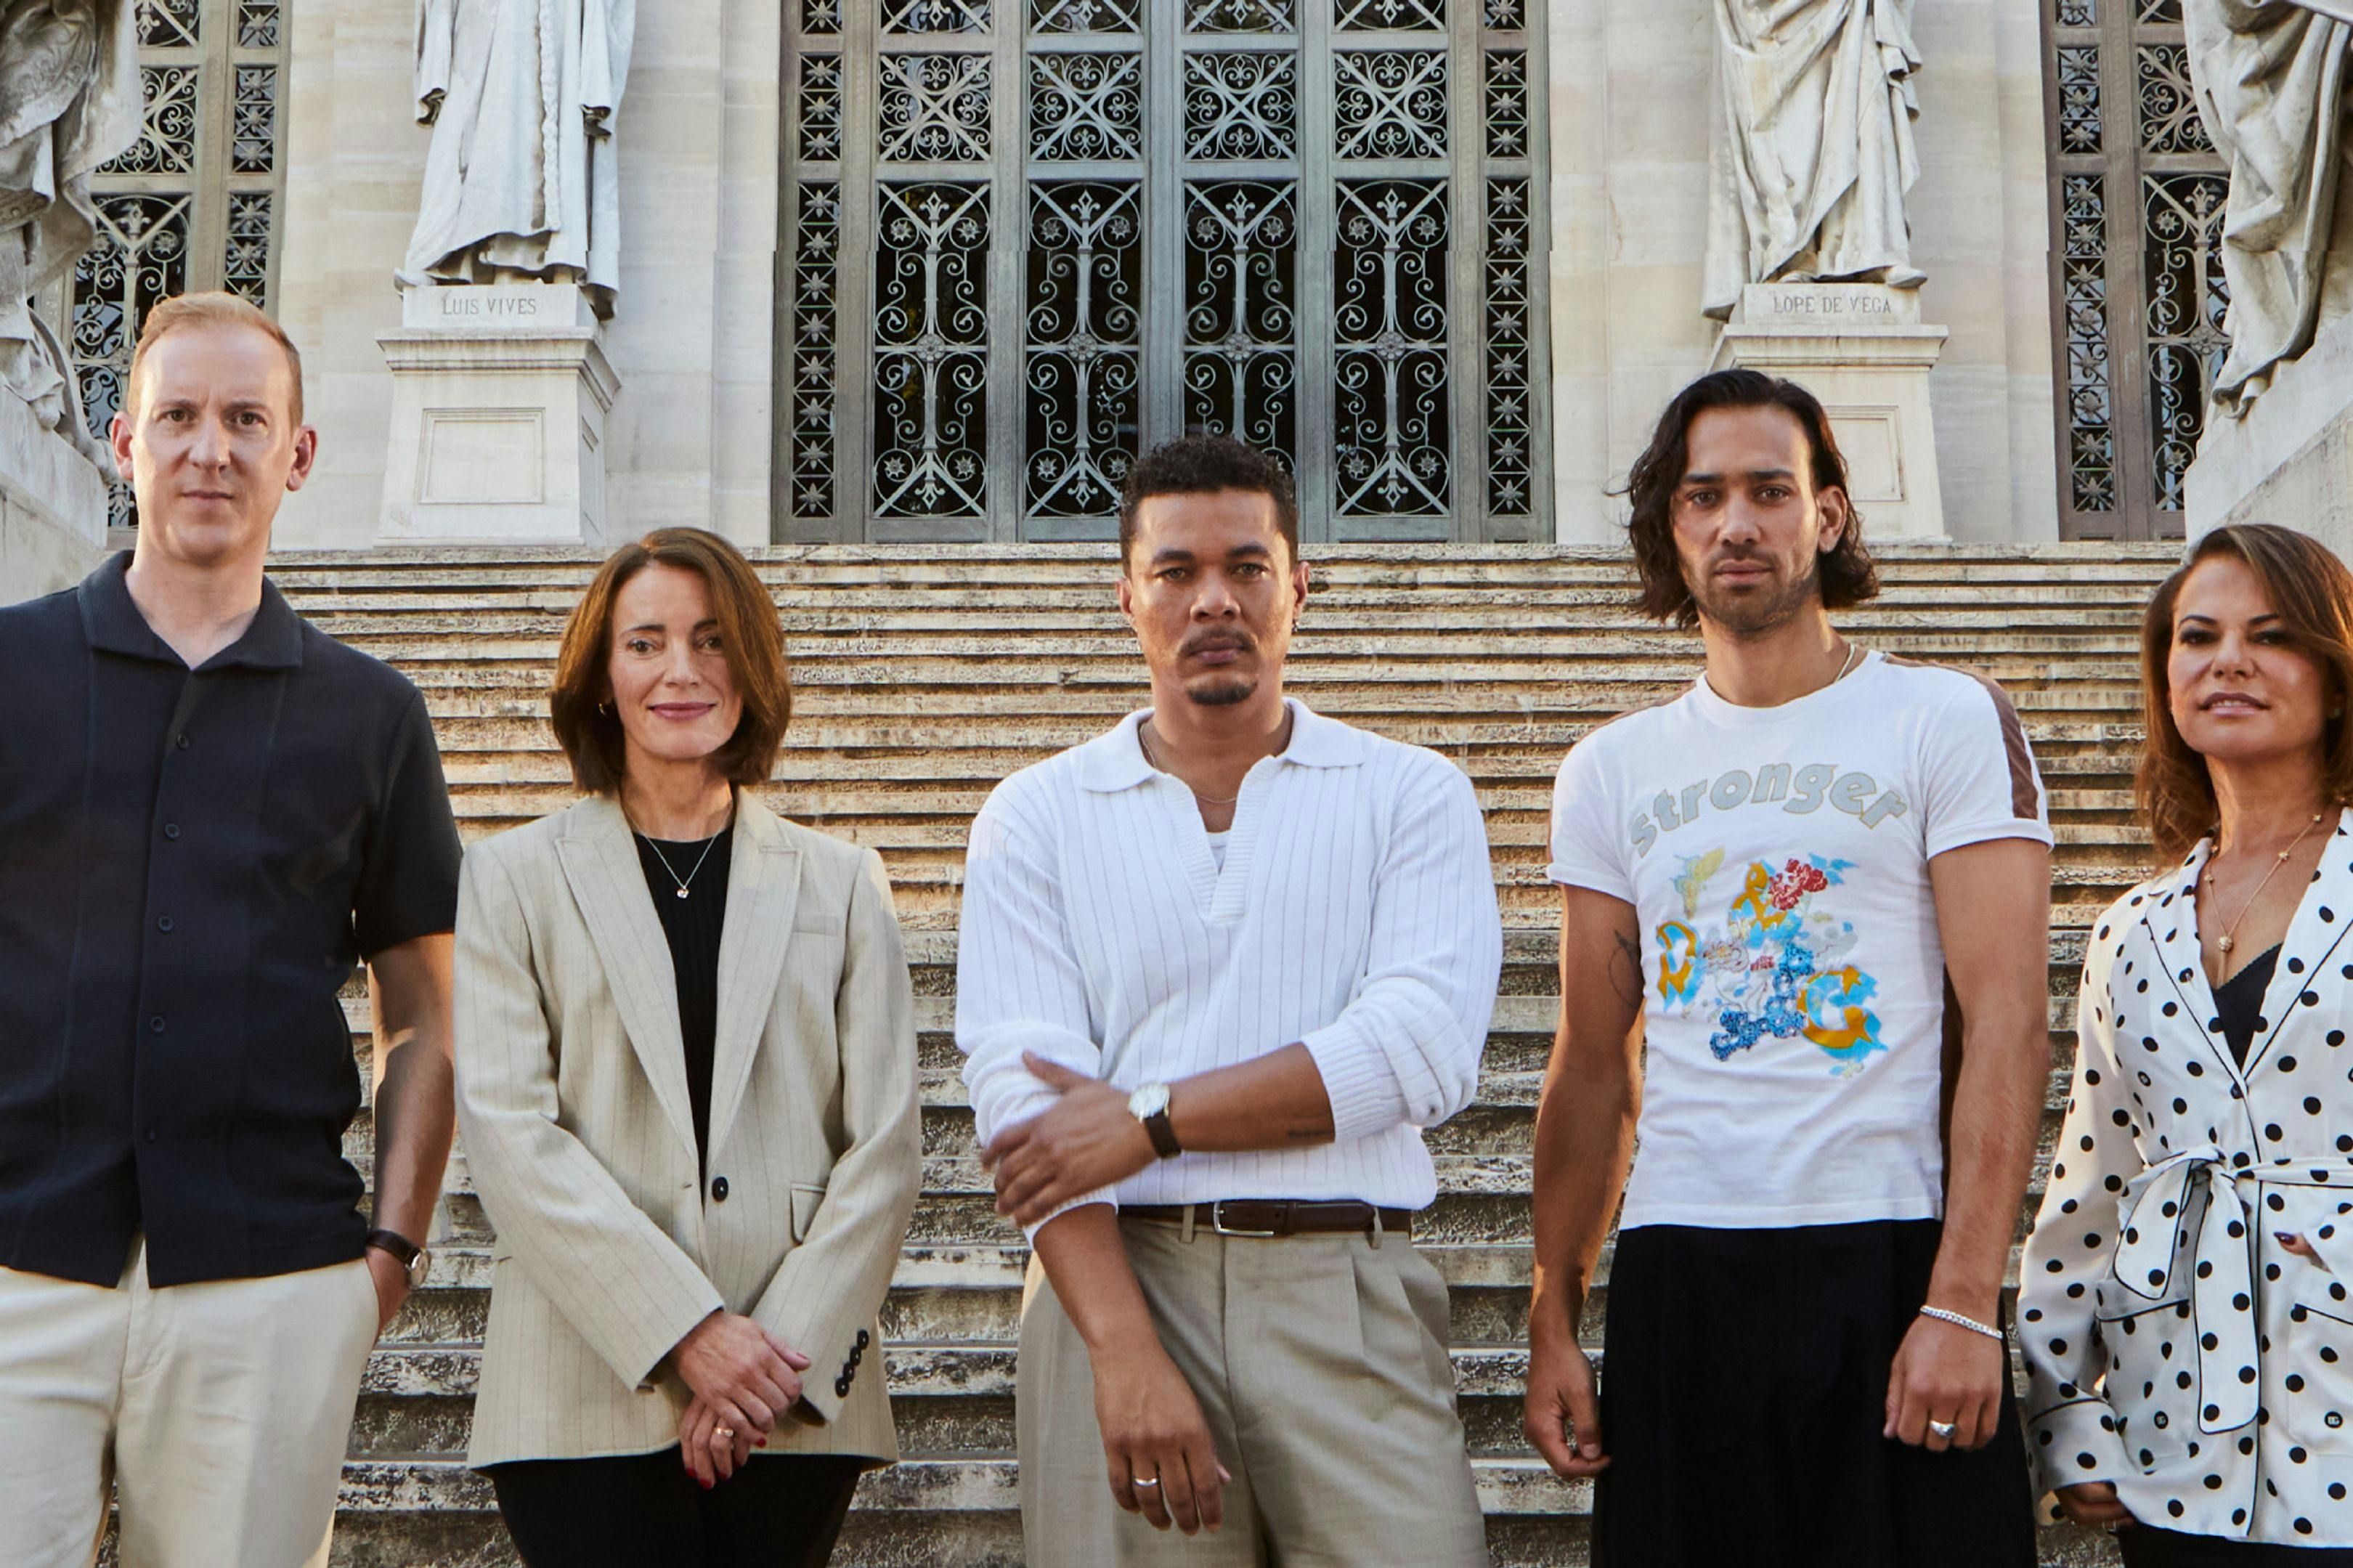
[[[2287,1158],[2233,1165],[2214,1144],[2184,1149],[2125,1182],[2118,1205],[2115,1281],[2162,1302],[2174,1288],[2174,1257],[2191,1208],[2191,1184],[2205,1182],[2207,1208],[2191,1250],[2191,1328],[2198,1335],[2200,1431],[2233,1431],[2261,1403],[2254,1318],[2254,1191],[2261,1187],[2353,1187],[2353,1161]]]

